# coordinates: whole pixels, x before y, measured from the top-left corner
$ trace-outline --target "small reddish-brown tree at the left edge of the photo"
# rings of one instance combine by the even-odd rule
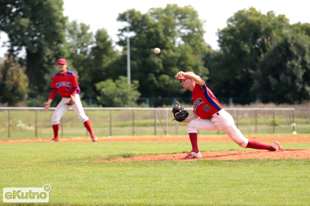
[[[27,98],[28,78],[19,64],[7,56],[5,65],[0,68],[0,99],[9,107]]]

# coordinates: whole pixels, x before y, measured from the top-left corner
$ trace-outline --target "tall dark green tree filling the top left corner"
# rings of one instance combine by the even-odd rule
[[[44,74],[62,56],[65,23],[62,0],[1,0],[0,30],[9,37],[9,54],[25,55],[29,88],[42,92]],[[22,66],[23,66],[22,64]]]

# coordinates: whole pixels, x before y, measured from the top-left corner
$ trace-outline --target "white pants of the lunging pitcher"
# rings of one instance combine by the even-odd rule
[[[241,134],[240,130],[235,125],[235,121],[232,116],[224,109],[220,110],[219,116],[211,119],[196,119],[188,122],[187,132],[197,133],[197,130],[203,129],[208,131],[221,130],[224,131],[236,142],[240,147],[245,148],[249,140]]]

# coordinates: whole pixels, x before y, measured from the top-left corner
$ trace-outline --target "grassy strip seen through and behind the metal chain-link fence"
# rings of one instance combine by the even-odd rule
[[[228,111],[243,134],[299,134],[310,133],[309,111],[296,111],[293,126],[292,114],[276,111],[275,118],[270,111]],[[303,112],[303,113],[302,113]],[[187,124],[172,121],[171,112],[158,111],[157,128],[155,112],[147,110],[86,110],[97,136],[119,135],[163,135],[186,134]],[[10,125],[8,111],[0,110],[0,138],[53,137],[51,116],[53,111],[11,110]],[[112,118],[110,118],[110,115]],[[177,125],[176,125],[177,124]],[[110,127],[111,126],[111,127]],[[10,132],[9,132],[10,127]],[[37,130],[36,130],[37,128]],[[223,134],[220,131],[200,131],[201,134]],[[89,136],[82,122],[73,110],[65,113],[60,121],[60,136]]]

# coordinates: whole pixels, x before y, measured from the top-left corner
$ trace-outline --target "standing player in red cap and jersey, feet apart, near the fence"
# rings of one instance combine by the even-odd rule
[[[52,127],[54,130],[54,138],[50,142],[59,141],[59,135],[58,135],[59,120],[64,115],[64,113],[68,111],[70,107],[72,107],[73,110],[77,113],[80,121],[84,123],[84,126],[91,134],[92,141],[93,142],[98,141],[97,137],[93,132],[91,121],[86,116],[84,109],[82,107],[82,103],[79,96],[81,90],[78,86],[77,76],[73,72],[67,70],[66,59],[59,59],[57,64],[59,72],[53,76],[51,83],[52,91],[48,101],[44,103],[45,104],[44,111],[48,111],[51,106],[51,102],[56,96],[57,91],[62,97],[51,119]]]

